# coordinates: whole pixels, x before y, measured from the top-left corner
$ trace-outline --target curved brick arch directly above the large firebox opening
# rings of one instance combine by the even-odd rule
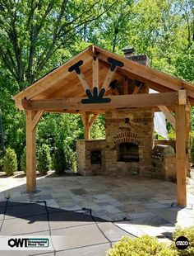
[[[119,145],[122,143],[133,143],[135,145],[139,145],[140,144],[140,140],[136,139],[137,134],[133,133],[131,131],[123,131],[123,132],[119,132],[115,137],[114,137],[114,144],[115,145]]]

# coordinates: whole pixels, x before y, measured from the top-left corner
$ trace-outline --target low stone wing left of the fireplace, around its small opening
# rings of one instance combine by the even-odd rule
[[[102,164],[91,164],[90,153],[101,151]],[[77,171],[81,175],[102,174],[105,168],[105,140],[77,140],[76,141]]]

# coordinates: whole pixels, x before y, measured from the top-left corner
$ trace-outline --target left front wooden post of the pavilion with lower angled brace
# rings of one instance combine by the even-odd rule
[[[26,111],[26,191],[36,190],[36,126],[44,111]]]

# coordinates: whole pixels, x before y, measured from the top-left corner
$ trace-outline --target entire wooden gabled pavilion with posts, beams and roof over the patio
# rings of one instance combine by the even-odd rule
[[[138,82],[132,90],[127,79]],[[122,92],[115,80],[123,81]],[[141,85],[159,93],[138,93]],[[26,113],[27,192],[36,189],[36,126],[44,112],[81,114],[85,140],[90,140],[90,127],[98,114],[108,109],[143,107],[163,111],[175,127],[178,205],[187,205],[189,110],[194,105],[191,83],[90,45],[14,99],[16,107]]]

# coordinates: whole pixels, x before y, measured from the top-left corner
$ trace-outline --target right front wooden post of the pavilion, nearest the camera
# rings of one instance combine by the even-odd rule
[[[176,171],[178,206],[187,206],[186,111],[176,107]]]

